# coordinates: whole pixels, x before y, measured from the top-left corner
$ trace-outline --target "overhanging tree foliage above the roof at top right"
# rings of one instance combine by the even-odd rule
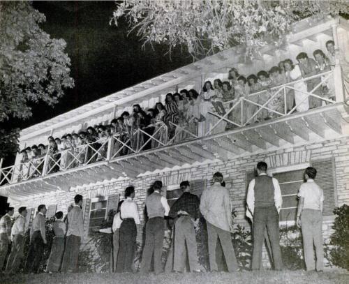
[[[126,17],[144,45],[165,43],[168,52],[186,47],[193,59],[232,46],[246,45],[246,57],[267,43],[281,44],[292,24],[311,15],[338,15],[345,1],[125,0],[117,3],[110,23]]]

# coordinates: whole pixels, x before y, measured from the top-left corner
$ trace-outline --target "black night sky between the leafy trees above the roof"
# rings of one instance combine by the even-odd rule
[[[46,16],[43,30],[52,38],[66,40],[75,87],[53,108],[33,104],[33,116],[25,121],[11,119],[11,127],[38,124],[192,62],[190,55],[179,49],[171,59],[165,55],[165,46],[142,49],[135,33],[127,36],[128,27],[122,22],[110,26],[114,1],[34,1],[33,6]]]

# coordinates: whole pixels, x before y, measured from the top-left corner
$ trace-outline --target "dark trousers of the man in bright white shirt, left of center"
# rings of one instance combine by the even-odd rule
[[[137,237],[137,227],[133,218],[126,218],[122,221],[119,234],[117,272],[132,272]]]

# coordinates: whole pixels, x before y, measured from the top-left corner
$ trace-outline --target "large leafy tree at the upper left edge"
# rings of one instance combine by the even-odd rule
[[[29,102],[54,105],[74,82],[64,53],[66,42],[50,38],[40,28],[45,15],[29,1],[0,1],[0,19],[0,123],[4,123],[31,117]],[[17,135],[16,130],[2,133]],[[1,157],[13,149],[15,144],[5,147],[0,140]]]

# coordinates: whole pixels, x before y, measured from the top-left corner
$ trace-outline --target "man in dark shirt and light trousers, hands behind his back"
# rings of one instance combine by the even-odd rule
[[[190,270],[200,272],[195,239],[195,227],[198,227],[200,217],[200,201],[197,195],[190,193],[188,181],[182,181],[179,186],[183,194],[174,202],[168,214],[170,218],[175,219],[173,270],[184,272],[187,249]]]

